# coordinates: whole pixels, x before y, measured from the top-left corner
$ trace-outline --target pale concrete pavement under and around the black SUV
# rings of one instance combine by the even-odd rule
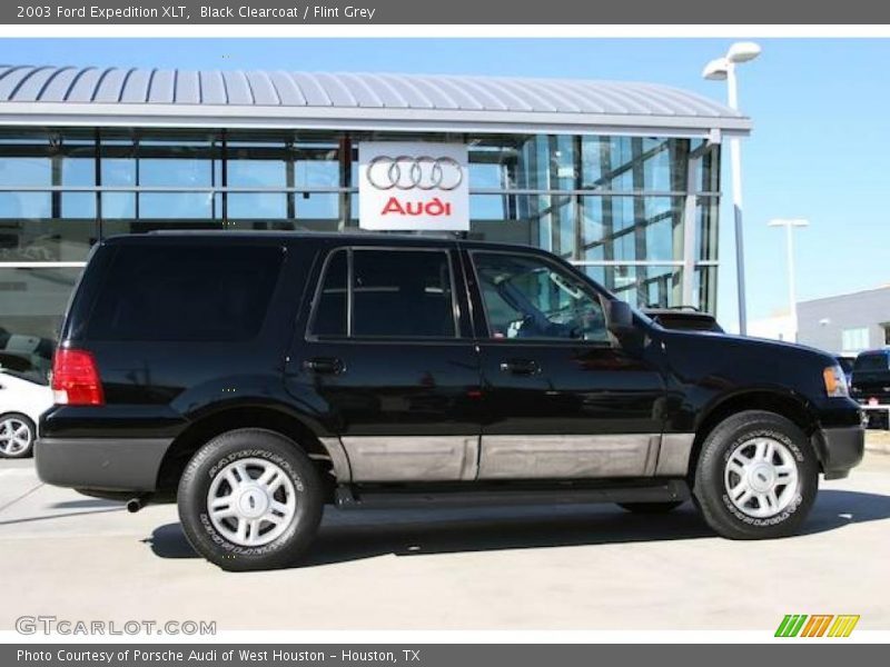
[[[785,614],[890,628],[890,456],[823,482],[804,534],[714,537],[691,505],[325,515],[308,563],[227,574],[174,506],[128,515],[0,460],[0,629],[21,615],[237,629],[773,629]]]

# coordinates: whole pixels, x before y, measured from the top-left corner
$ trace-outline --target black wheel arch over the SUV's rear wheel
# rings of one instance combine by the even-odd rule
[[[287,437],[313,459],[322,479],[333,480],[330,456],[308,421],[268,405],[227,407],[204,415],[191,421],[167,449],[158,469],[157,492],[175,494],[186,465],[198,449],[224,432],[241,428],[259,428]]]

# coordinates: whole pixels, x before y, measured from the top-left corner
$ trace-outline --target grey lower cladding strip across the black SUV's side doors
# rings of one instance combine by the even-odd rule
[[[693,434],[323,438],[337,481],[683,477]]]

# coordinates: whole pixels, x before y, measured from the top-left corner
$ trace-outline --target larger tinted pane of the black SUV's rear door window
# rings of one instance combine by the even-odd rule
[[[353,262],[353,336],[454,337],[445,252],[357,249]]]

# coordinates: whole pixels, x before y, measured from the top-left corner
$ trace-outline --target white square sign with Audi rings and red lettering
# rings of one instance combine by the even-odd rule
[[[363,229],[469,229],[466,146],[363,141],[358,162]]]

